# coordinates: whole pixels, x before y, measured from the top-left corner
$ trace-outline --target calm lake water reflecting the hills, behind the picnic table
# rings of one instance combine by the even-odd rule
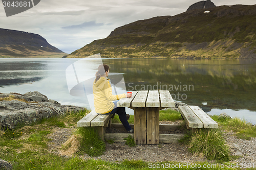
[[[68,90],[66,68],[78,60],[2,58],[0,92],[39,91],[61,104],[89,107],[86,97],[72,96]],[[84,75],[93,76],[98,62],[89,63],[91,67]],[[123,75],[126,91],[169,90],[176,101],[256,124],[255,60],[103,59],[103,63],[110,66],[110,78]]]

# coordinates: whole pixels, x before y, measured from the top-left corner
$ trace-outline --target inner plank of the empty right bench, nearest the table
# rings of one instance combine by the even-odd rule
[[[179,111],[189,128],[203,128],[203,123],[188,106],[179,106]]]

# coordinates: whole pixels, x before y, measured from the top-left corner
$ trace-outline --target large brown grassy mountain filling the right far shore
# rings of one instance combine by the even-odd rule
[[[104,58],[256,58],[256,5],[138,20],[71,53]]]

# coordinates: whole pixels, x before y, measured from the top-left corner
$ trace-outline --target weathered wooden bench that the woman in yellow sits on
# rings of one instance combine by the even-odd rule
[[[98,130],[99,136],[104,140],[104,127],[111,126],[111,118],[115,114],[97,114],[95,110],[88,113],[77,122],[78,127],[95,127]]]

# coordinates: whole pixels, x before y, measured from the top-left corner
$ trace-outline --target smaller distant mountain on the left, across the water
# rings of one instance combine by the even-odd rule
[[[0,57],[62,57],[66,53],[38,34],[0,29]]]

